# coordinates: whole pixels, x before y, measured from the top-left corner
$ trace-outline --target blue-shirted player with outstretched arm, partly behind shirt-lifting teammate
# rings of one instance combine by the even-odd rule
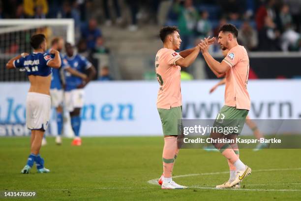
[[[58,50],[61,52],[64,46],[64,40],[62,37],[55,37],[51,41],[51,49]],[[50,50],[51,50],[50,49]],[[49,53],[49,50],[47,51]],[[50,86],[50,96],[51,96],[51,106],[56,108],[57,112],[57,127],[58,127],[58,136],[56,137],[56,143],[60,145],[62,143],[61,133],[62,133],[62,125],[63,125],[63,115],[62,115],[62,103],[63,103],[63,86],[61,79],[61,70],[66,70],[69,73],[81,78],[87,79],[87,75],[72,69],[65,59],[62,59],[62,55],[60,53],[61,58],[61,67],[59,69],[52,70],[51,77],[51,86]],[[42,145],[46,144],[46,140],[43,139]]]

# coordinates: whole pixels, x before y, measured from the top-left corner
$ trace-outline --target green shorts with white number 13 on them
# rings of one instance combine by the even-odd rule
[[[248,113],[247,109],[224,105],[217,114],[213,127],[218,127],[218,133],[241,134]]]

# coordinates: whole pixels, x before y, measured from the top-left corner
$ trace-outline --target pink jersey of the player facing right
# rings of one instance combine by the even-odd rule
[[[157,108],[170,109],[182,105],[181,67],[176,61],[182,57],[172,49],[162,48],[156,54],[155,68],[160,88]]]

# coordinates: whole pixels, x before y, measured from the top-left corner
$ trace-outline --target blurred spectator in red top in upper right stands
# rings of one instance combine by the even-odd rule
[[[265,26],[266,16],[269,16],[272,21],[276,18],[274,6],[275,0],[268,0],[267,3],[264,3],[257,9],[255,16],[257,31],[260,31]]]

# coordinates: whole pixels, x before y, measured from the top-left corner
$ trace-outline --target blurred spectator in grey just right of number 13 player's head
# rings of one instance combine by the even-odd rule
[[[254,50],[258,45],[257,32],[245,21],[239,30],[238,40],[247,50]]]

